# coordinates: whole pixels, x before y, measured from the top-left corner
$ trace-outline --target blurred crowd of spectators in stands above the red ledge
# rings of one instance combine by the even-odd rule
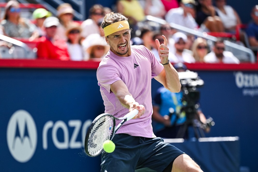
[[[2,59],[101,61],[109,46],[100,24],[106,13],[120,12],[129,18],[131,45],[146,46],[158,60],[155,39],[163,43],[165,35],[171,62],[257,61],[257,5],[246,11],[248,23],[226,0],[118,0],[92,5],[86,20],[78,19],[82,14],[72,3],[48,9],[11,0],[1,6],[0,34],[7,36],[0,42]]]

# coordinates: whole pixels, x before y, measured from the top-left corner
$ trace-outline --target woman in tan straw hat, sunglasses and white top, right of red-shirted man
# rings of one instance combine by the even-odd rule
[[[67,45],[68,45],[68,52],[70,54],[70,60],[73,60],[73,61],[84,60],[83,48],[80,43],[81,32],[82,32],[82,29],[80,28],[80,25],[76,22],[71,23],[66,30],[66,36],[68,38]]]

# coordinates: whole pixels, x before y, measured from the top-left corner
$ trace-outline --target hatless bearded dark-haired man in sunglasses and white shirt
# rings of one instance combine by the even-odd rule
[[[213,51],[204,57],[206,63],[227,63],[239,64],[240,61],[230,51],[225,51],[223,40],[219,39],[214,43]]]

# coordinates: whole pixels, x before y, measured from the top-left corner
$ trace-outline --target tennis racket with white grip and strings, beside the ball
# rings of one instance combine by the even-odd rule
[[[97,116],[91,123],[85,136],[84,148],[90,157],[96,157],[103,151],[103,143],[106,140],[112,140],[117,130],[126,122],[138,114],[138,110],[127,113],[122,118],[116,118],[108,113]],[[116,120],[122,120],[116,126]]]

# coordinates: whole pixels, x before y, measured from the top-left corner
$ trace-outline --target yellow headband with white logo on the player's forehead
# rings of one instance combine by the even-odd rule
[[[127,20],[115,22],[111,25],[108,25],[107,27],[104,27],[103,30],[104,30],[105,36],[108,36],[112,33],[115,33],[124,29],[129,29],[129,23]]]

